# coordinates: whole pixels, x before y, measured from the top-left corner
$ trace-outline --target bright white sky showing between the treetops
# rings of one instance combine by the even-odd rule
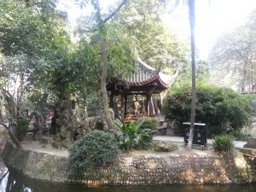
[[[137,0],[140,1],[140,0]],[[103,9],[116,0],[100,0]],[[90,9],[79,9],[73,0],[60,0],[59,9],[66,9],[71,26],[80,15],[86,15]],[[199,57],[207,60],[212,46],[225,32],[235,30],[247,21],[247,16],[256,9],[256,0],[196,0],[195,1],[195,44]],[[172,15],[163,15],[166,26],[181,37],[188,38],[188,9],[179,6]]]

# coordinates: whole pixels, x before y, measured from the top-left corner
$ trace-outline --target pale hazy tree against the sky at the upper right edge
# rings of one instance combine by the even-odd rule
[[[241,91],[256,90],[255,15],[253,12],[246,25],[218,38],[210,55],[214,83]]]

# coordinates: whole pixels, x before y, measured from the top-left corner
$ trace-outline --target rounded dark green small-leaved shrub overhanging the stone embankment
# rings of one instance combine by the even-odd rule
[[[118,143],[113,134],[91,131],[69,148],[69,168],[75,173],[89,172],[112,163],[118,154]]]

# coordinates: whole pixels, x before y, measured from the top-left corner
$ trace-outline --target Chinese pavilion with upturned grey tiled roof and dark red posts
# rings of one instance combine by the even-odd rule
[[[154,116],[154,104],[152,101],[153,94],[160,94],[163,90],[169,88],[177,78],[177,73],[166,75],[159,70],[148,66],[145,62],[137,59],[136,69],[131,73],[127,81],[120,79],[112,79],[107,84],[107,90],[110,94],[110,108],[113,108],[113,97],[120,96],[120,113],[127,115],[127,97],[128,96],[145,96],[146,102],[143,104],[145,110],[140,115]],[[134,107],[137,108],[138,102],[134,102]],[[137,116],[137,114],[134,114]]]

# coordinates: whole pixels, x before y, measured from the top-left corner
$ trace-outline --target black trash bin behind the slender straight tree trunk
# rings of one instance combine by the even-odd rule
[[[184,142],[189,143],[189,129],[190,123],[183,123],[184,127]],[[195,123],[194,137],[193,142],[194,145],[206,145],[207,144],[207,130],[206,124]]]

